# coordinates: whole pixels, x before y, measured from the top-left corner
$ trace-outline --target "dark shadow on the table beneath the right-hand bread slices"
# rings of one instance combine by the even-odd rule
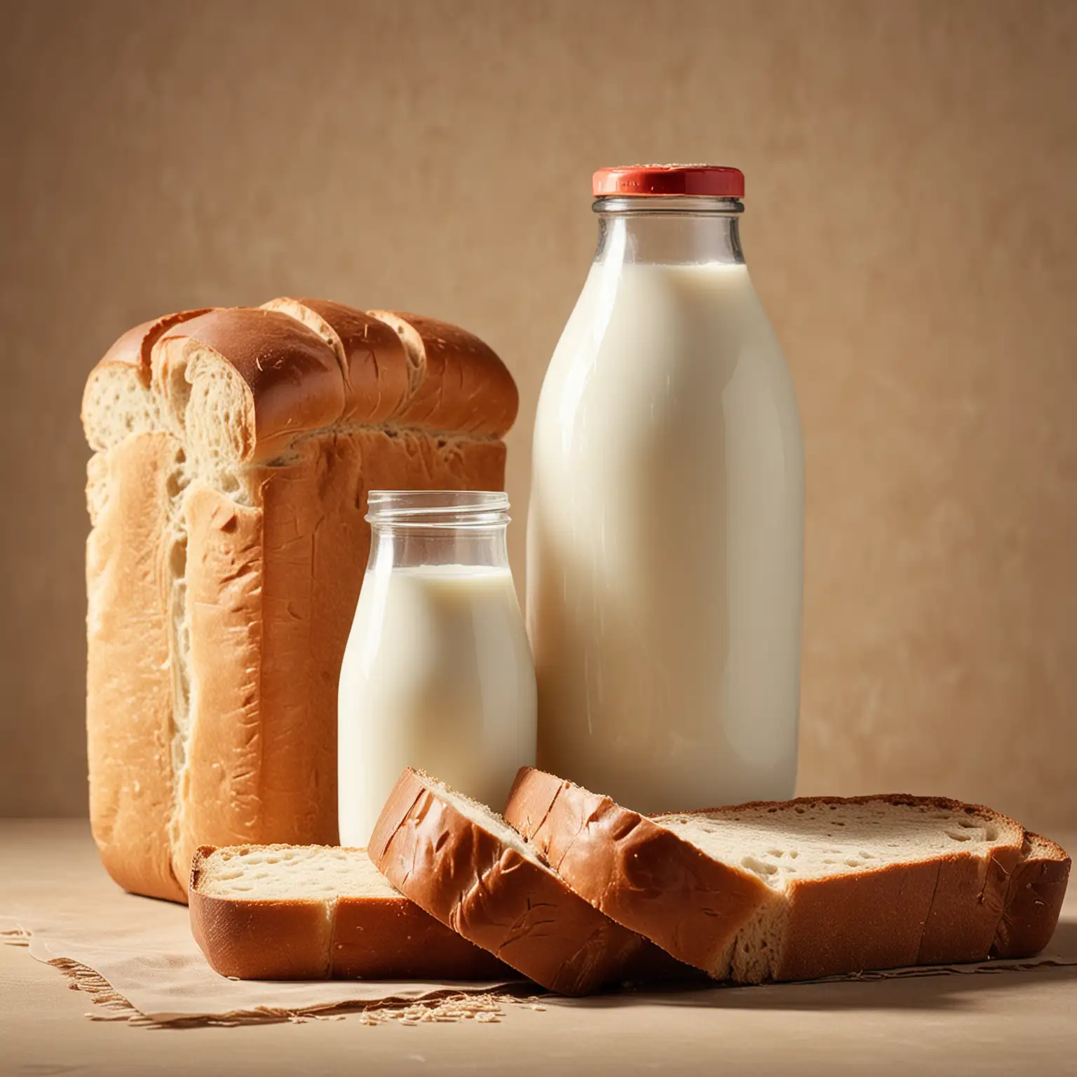
[[[1047,953],[1072,965],[987,968],[982,971],[904,975],[830,982],[767,983],[758,987],[702,985],[698,981],[624,990],[588,998],[544,998],[547,1005],[588,1007],[695,1006],[700,1009],[841,1010],[961,1009],[975,995],[1045,984],[1077,985],[1077,922],[1059,924]],[[1013,963],[1017,964],[1017,963]]]

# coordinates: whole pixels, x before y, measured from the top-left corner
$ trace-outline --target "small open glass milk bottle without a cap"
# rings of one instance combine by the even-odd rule
[[[365,845],[405,767],[501,810],[534,763],[535,677],[508,498],[375,490],[370,559],[340,670],[340,843]]]

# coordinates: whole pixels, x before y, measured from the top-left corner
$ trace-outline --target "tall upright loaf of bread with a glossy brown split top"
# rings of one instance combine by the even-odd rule
[[[336,691],[370,489],[502,489],[474,336],[317,299],[136,326],[86,383],[90,819],[122,886],[202,844],[337,839]]]

